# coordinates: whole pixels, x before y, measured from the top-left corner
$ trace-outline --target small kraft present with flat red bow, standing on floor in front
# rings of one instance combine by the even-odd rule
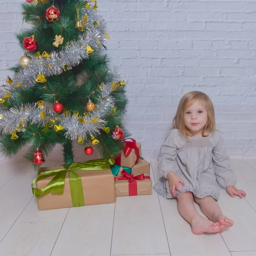
[[[152,180],[146,174],[130,175],[122,171],[122,177],[115,177],[116,196],[151,195]]]

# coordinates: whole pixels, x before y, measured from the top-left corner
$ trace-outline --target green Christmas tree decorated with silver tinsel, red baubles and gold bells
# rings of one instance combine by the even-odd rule
[[[73,141],[102,157],[119,154],[127,131],[122,127],[125,81],[110,69],[106,23],[96,0],[26,0],[23,21],[31,24],[16,37],[24,50],[0,87],[0,151],[40,165],[56,144],[64,163],[74,162]]]

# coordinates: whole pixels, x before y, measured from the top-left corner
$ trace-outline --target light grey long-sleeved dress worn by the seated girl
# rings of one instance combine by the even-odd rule
[[[186,139],[178,129],[173,129],[161,147],[158,161],[163,177],[153,188],[167,199],[173,198],[166,179],[171,171],[184,180],[185,186],[180,183],[181,193],[192,192],[198,198],[212,196],[218,201],[220,186],[226,188],[236,184],[220,131],[208,137]],[[177,195],[181,193],[176,190]]]

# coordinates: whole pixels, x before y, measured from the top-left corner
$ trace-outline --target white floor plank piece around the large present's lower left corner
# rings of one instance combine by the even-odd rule
[[[17,222],[61,222],[67,216],[68,208],[39,211],[37,199],[34,197],[21,213]]]

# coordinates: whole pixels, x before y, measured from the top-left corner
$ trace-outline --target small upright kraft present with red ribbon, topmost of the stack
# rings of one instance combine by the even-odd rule
[[[131,140],[131,141],[128,141]],[[137,143],[134,139],[125,139],[125,148],[121,154],[116,157],[116,165],[132,168],[141,160],[141,144]]]

